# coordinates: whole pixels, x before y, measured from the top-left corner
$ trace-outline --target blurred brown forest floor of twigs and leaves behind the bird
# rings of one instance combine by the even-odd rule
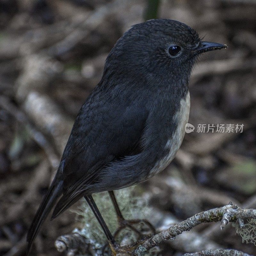
[[[74,118],[100,81],[108,52],[143,21],[146,6],[135,0],[0,1],[0,255],[24,254],[26,231]],[[189,123],[206,124],[206,131],[208,124],[244,127],[242,133],[195,128],[186,134],[167,170],[142,184],[151,204],[178,220],[229,201],[256,208],[256,1],[160,1],[158,17],[228,45],[205,54],[193,71]],[[76,227],[74,219],[66,211],[45,224],[36,255],[64,255],[54,240]],[[208,241],[203,249],[211,244],[256,255],[234,228],[220,231],[211,223],[195,232]],[[201,249],[191,243],[175,239],[162,246],[163,254]]]

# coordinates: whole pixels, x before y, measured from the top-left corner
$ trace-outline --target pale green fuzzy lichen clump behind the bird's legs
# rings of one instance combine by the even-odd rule
[[[114,193],[119,208],[126,220],[148,219],[152,209],[148,206],[148,200],[146,197],[142,196],[140,186],[116,190]],[[110,232],[114,234],[118,228],[118,222],[116,212],[108,192],[102,192],[92,196]],[[93,215],[91,208],[84,199],[81,200],[79,210],[75,212],[77,213],[77,220],[81,224],[80,232],[82,232],[84,236],[91,241],[94,241],[94,243],[101,245],[105,244],[106,236],[104,235],[97,219]],[[141,227],[137,226],[136,228],[140,229]],[[136,241],[135,234],[131,232],[131,230],[125,229],[118,236],[117,242],[120,243],[127,235],[129,236],[129,240],[133,242]]]

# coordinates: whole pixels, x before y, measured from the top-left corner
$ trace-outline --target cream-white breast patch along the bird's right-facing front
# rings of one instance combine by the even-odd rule
[[[150,177],[164,170],[171,163],[172,159],[176,155],[185,135],[185,125],[188,123],[189,109],[190,96],[189,92],[187,92],[187,95],[183,99],[181,99],[180,109],[173,116],[171,124],[166,124],[174,125],[174,131],[172,132],[170,138],[167,139],[167,141],[165,140],[162,142],[164,152],[160,159],[157,160],[154,167],[151,169],[149,173]]]

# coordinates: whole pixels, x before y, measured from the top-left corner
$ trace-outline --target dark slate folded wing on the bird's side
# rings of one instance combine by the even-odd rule
[[[97,184],[105,166],[141,152],[148,110],[145,99],[138,98],[119,100],[96,93],[81,108],[62,156],[63,196],[53,218]]]

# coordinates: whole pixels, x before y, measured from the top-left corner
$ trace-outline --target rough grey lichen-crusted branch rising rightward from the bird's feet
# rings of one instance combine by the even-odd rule
[[[220,208],[197,213],[196,215],[188,218],[187,220],[184,220],[168,228],[167,230],[148,238],[143,244],[141,244],[138,248],[134,250],[134,253],[142,256],[150,248],[155,247],[163,243],[164,241],[173,240],[183,231],[189,231],[200,223],[221,221],[221,228],[223,228],[225,225],[228,224],[228,222],[235,222],[237,220],[239,223],[243,223],[243,220],[255,218],[256,210],[243,209],[238,207],[237,205],[233,205],[232,203],[230,203]]]

